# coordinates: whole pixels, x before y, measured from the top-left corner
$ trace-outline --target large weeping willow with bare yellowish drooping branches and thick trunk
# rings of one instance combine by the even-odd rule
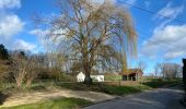
[[[102,0],[103,1],[103,0]],[[47,22],[49,40],[69,61],[80,62],[85,84],[93,69],[124,69],[136,55],[137,35],[129,12],[111,0],[60,0],[60,14]],[[121,65],[118,65],[120,64]]]

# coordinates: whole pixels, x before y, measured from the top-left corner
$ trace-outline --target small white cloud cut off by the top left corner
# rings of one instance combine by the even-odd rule
[[[21,8],[21,0],[0,0],[0,9]]]

